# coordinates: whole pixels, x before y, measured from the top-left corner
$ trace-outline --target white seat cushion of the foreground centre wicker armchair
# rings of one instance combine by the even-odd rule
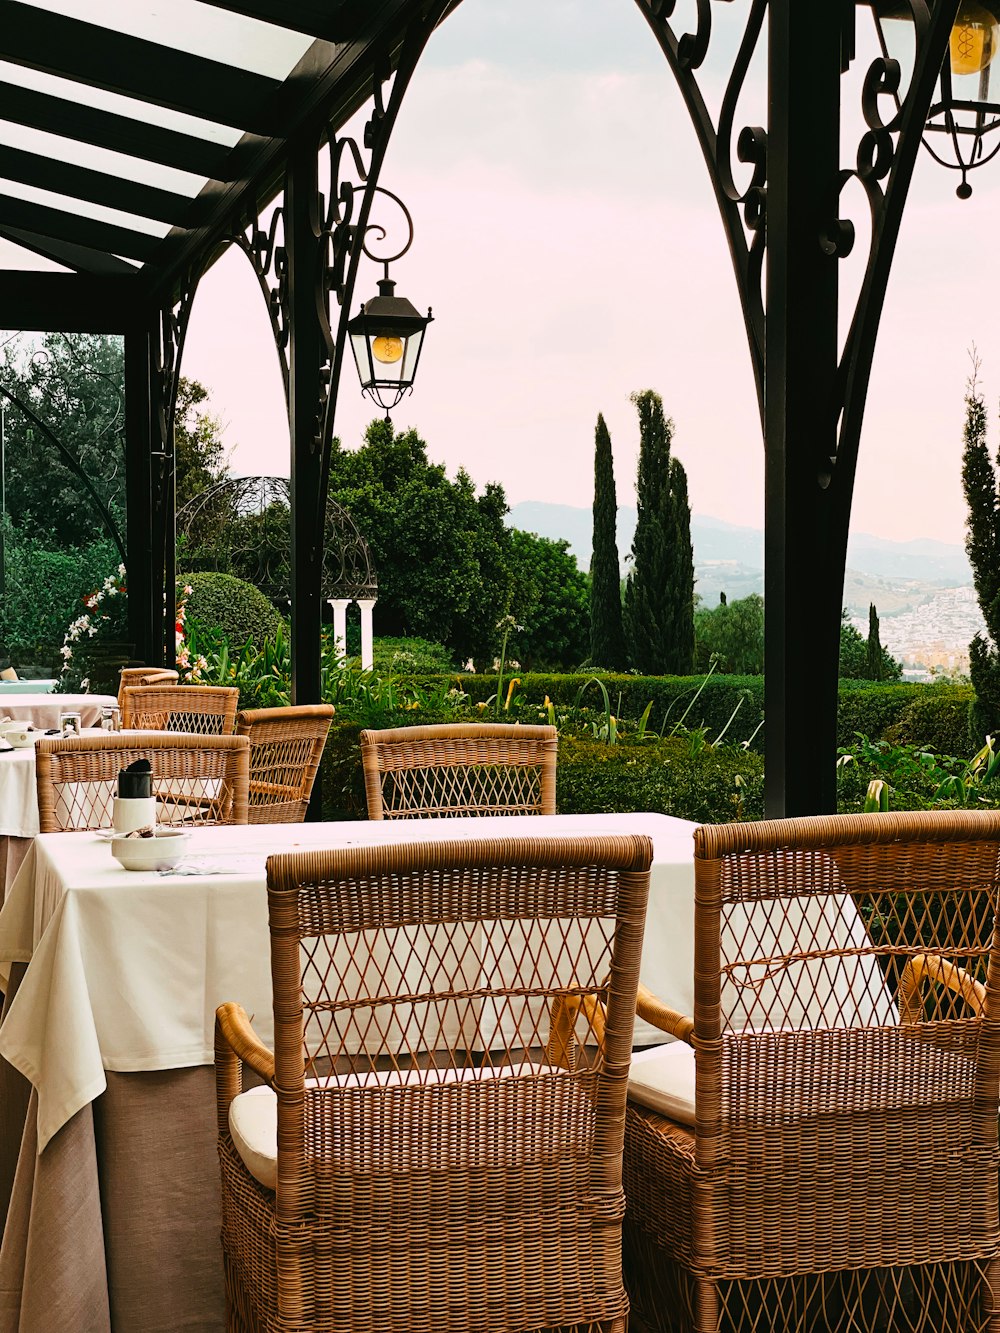
[[[527,1077],[535,1076],[535,1077]],[[543,1077],[537,1076],[555,1076]],[[496,1096],[501,1089],[497,1080],[517,1078],[517,1086],[505,1086],[512,1094]],[[468,1114],[469,1102],[451,1097],[448,1088],[459,1093],[459,1084],[476,1081],[484,1097],[476,1108],[488,1117],[491,1133],[480,1136],[480,1152],[487,1154],[491,1165],[503,1165],[520,1158],[524,1152],[521,1122],[525,1117],[545,1117],[547,1122],[567,1125],[567,1134],[557,1145],[560,1153],[587,1153],[592,1144],[592,1106],[579,1081],[565,1069],[553,1065],[501,1065],[496,1069],[408,1069],[387,1070],[364,1074],[340,1074],[328,1078],[307,1078],[305,1086],[331,1090],[343,1088],[345,1092],[359,1088],[401,1088],[405,1085],[437,1085],[441,1088],[439,1105],[431,1112],[436,1114],[435,1133],[417,1136],[419,1141],[396,1145],[393,1153],[397,1165],[436,1166],[452,1165],[451,1158],[459,1157],[468,1164]],[[491,1085],[493,1093],[491,1093]],[[692,1093],[693,1096],[693,1093]],[[347,1118],[329,1137],[329,1150],[337,1160],[341,1150],[352,1156],[359,1141],[360,1124],[351,1121],[359,1112],[356,1098],[352,1106],[345,1105]],[[229,1134],[243,1164],[255,1180],[265,1189],[275,1189],[277,1181],[277,1098],[271,1088],[251,1088],[233,1097],[229,1104]],[[377,1137],[377,1136],[376,1136]],[[463,1150],[463,1142],[465,1142]],[[381,1156],[379,1145],[372,1145],[375,1157]]]

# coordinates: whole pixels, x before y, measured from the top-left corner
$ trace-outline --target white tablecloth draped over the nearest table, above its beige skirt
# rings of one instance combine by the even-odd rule
[[[0,1026],[0,1053],[39,1093],[39,1150],[105,1088],[105,1069],[179,1069],[213,1061],[215,1010],[239,1001],[261,1038],[273,1034],[264,862],[272,852],[305,846],[411,841],[417,837],[545,833],[647,833],[653,841],[640,977],[684,1013],[693,1009],[693,824],[665,814],[515,816],[468,820],[249,825],[192,830],[192,876],[121,869],[93,833],[37,837],[0,912],[0,973],[28,962]],[[207,861],[215,862],[212,869]],[[827,908],[841,944],[864,930],[847,897]],[[791,936],[799,925],[789,906]],[[825,962],[817,964],[820,969]],[[895,1021],[877,966],[860,986],[860,1009]],[[857,977],[853,977],[857,982]],[[824,994],[851,984],[821,973]],[[781,977],[775,985],[781,989]],[[759,994],[755,980],[752,993]],[[727,1000],[724,998],[724,1004]],[[740,996],[728,1008],[739,1012]],[[657,1040],[644,1024],[636,1045]],[[661,1040],[661,1036],[660,1038]]]

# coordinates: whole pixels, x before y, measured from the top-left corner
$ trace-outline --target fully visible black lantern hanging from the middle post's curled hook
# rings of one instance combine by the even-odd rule
[[[379,295],[347,325],[361,391],[387,413],[413,388],[424,331],[432,319],[429,309],[421,315],[405,296],[396,296],[387,264]]]

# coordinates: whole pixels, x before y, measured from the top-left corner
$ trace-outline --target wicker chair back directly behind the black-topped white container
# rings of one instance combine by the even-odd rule
[[[164,824],[247,824],[245,736],[51,736],[35,746],[43,833],[111,828],[119,769],[148,758]]]

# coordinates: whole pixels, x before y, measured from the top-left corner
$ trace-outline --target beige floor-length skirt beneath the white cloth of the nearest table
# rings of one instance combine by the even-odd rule
[[[109,1072],[41,1156],[35,1108],[0,1061],[0,1333],[221,1333],[215,1070]]]

